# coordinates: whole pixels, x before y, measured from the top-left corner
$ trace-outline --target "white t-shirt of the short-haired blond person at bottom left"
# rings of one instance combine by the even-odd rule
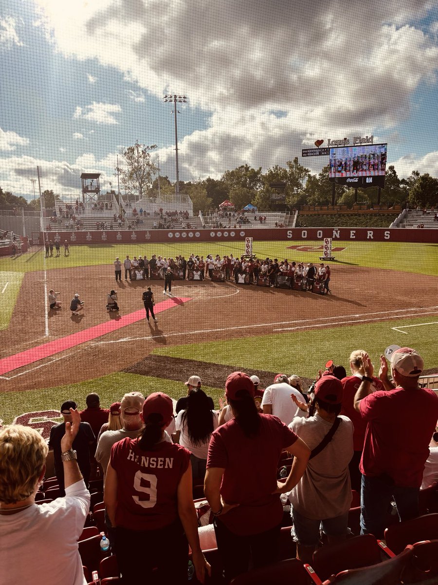
[[[84,480],[65,498],[0,515],[0,583],[86,585],[78,538],[90,508]]]

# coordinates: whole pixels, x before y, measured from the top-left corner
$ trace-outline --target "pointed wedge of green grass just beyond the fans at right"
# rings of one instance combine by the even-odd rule
[[[371,315],[373,318],[373,316]],[[380,315],[374,315],[380,318]],[[419,326],[419,324],[430,325]],[[433,324],[432,324],[433,323]],[[297,322],[300,326],[300,322]],[[391,329],[403,329],[408,333]],[[294,325],[279,325],[287,327]],[[438,366],[436,357],[436,339],[438,335],[438,318],[425,315],[416,319],[391,319],[391,321],[354,324],[342,328],[319,329],[320,324],[311,331],[281,332],[281,335],[263,335],[244,337],[229,341],[208,343],[189,343],[156,349],[153,353],[161,356],[196,359],[200,362],[220,363],[245,369],[245,366],[272,371],[297,374],[314,378],[318,369],[328,359],[342,364],[348,369],[348,358],[354,349],[368,351],[373,363],[378,368],[380,354],[392,343],[400,346],[415,347],[425,360],[426,369]],[[250,357],[248,357],[250,356]]]

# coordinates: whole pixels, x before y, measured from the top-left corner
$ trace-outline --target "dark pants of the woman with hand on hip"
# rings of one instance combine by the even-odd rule
[[[279,556],[280,528],[279,524],[260,534],[238,536],[215,518],[214,532],[224,566],[225,583],[248,569],[275,563]]]

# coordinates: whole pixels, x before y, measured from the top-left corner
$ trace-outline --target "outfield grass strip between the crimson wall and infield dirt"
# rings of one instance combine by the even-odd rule
[[[284,240],[277,242],[255,242],[254,253],[260,258],[270,257],[278,259],[303,260],[305,262],[319,262],[321,250],[303,252],[288,249],[288,246],[321,246],[321,240],[307,242],[303,240]],[[404,242],[333,242],[333,247],[345,247],[342,252],[335,252],[336,261],[331,263],[350,264],[352,266],[366,266],[390,270],[401,270],[416,274],[438,276],[438,262],[436,255],[438,244],[404,243]],[[183,254],[186,258],[191,253],[207,254],[234,254],[244,253],[243,242],[190,242],[190,243],[149,243],[149,244],[102,244],[71,246],[71,255],[59,258],[48,258],[44,261],[43,249],[32,249],[16,259],[3,258],[0,260],[0,269],[12,272],[30,272],[34,270],[51,270],[75,266],[108,265],[109,273],[113,269],[116,256],[124,259],[126,254],[144,256],[152,254],[173,256]]]

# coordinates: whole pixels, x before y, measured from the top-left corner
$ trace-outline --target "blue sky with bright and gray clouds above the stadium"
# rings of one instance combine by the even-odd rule
[[[175,180],[374,135],[400,176],[438,176],[438,0],[3,0],[0,185],[77,194],[135,140]],[[323,144],[323,146],[325,145]]]

